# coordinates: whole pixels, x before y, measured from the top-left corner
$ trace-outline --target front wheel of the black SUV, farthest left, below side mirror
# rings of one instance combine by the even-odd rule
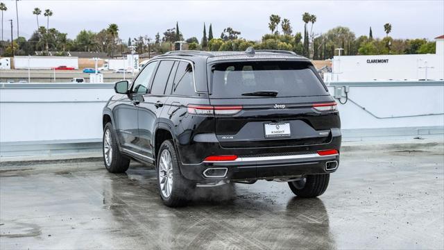
[[[105,168],[108,172],[113,174],[126,172],[130,166],[130,158],[120,153],[116,133],[110,122],[103,128],[102,142],[103,163],[105,163]]]

